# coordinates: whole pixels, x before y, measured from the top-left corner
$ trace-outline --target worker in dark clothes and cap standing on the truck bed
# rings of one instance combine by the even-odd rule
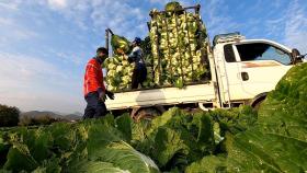
[[[143,85],[143,82],[147,78],[147,69],[144,60],[144,51],[139,47],[140,42],[141,39],[139,37],[135,37],[133,42],[133,47],[134,47],[133,51],[128,56],[128,61],[135,62],[135,69],[132,78],[132,89],[137,89],[138,84]]]

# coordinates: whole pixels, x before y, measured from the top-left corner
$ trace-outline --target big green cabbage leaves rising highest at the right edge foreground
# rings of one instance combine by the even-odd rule
[[[306,172],[307,64],[294,67],[243,132],[226,132],[227,158],[205,157],[186,172]],[[200,171],[201,170],[201,171]]]

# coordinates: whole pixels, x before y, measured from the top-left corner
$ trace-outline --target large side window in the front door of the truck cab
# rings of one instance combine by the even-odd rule
[[[283,65],[291,65],[291,56],[283,49],[272,45],[255,43],[237,45],[241,61],[276,60]]]

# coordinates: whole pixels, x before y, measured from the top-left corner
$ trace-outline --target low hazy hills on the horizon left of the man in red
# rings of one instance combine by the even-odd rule
[[[25,112],[25,113],[21,113],[21,117],[23,116],[27,116],[27,117],[32,117],[32,118],[37,118],[41,116],[49,116],[52,118],[61,118],[61,119],[67,119],[67,120],[78,120],[82,118],[82,114],[81,113],[73,113],[73,114],[68,114],[68,115],[60,115],[54,112],[48,112],[48,111],[44,111],[44,112],[39,112],[39,111],[31,111],[31,112]]]

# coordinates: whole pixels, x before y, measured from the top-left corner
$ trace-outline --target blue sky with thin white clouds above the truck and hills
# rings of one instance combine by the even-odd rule
[[[0,103],[21,111],[83,112],[84,65],[104,30],[148,34],[150,9],[168,0],[0,0]],[[211,37],[240,31],[307,53],[306,0],[181,0],[201,3]]]

